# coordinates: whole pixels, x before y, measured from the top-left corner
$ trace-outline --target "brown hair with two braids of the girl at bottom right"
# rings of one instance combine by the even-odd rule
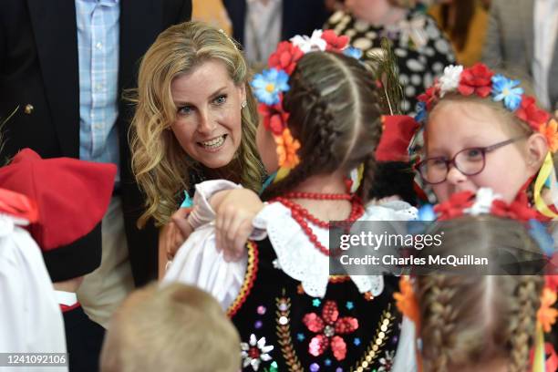
[[[541,275],[533,274],[540,247],[521,222],[489,215],[444,222],[438,230],[433,233],[444,232],[443,244],[429,247],[429,255],[481,256],[503,248],[511,249],[521,265],[517,275],[417,277],[424,370],[445,372],[502,360],[512,372],[525,371],[544,284]]]

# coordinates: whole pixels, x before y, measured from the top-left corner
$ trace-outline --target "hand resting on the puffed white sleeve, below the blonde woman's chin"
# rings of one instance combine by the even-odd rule
[[[253,231],[252,220],[263,208],[259,196],[247,189],[221,191],[212,197],[216,212],[215,242],[225,261],[238,261]]]

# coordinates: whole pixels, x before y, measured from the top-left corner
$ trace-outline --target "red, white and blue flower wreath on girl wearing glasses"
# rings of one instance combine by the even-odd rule
[[[520,83],[520,80],[512,80],[496,74],[481,63],[469,68],[446,67],[443,75],[434,82],[434,85],[418,96],[418,114],[415,119],[424,124],[429,111],[448,93],[458,93],[462,96],[476,95],[502,102],[505,109],[527,123],[534,132],[541,133],[548,143],[550,152],[546,155],[535,181],[533,195],[537,210],[547,217],[555,218],[558,214],[549,209],[542,200],[541,191],[545,185],[551,189],[555,196],[554,207],[558,209],[558,186],[551,156],[551,153],[558,150],[558,122],[551,114],[537,107],[534,98],[524,94]]]

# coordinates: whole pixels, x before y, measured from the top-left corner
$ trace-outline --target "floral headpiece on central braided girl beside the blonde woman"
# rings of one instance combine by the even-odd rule
[[[288,80],[296,63],[306,53],[314,51],[334,51],[350,57],[360,58],[360,50],[347,47],[348,36],[337,36],[333,30],[315,30],[312,36],[294,36],[282,41],[269,57],[268,69],[256,74],[252,81],[254,95],[260,102],[258,110],[263,116],[263,126],[274,135],[279,158],[279,171],[275,181],[279,181],[300,162],[296,151],[300,142],[293,138],[287,127],[289,113],[283,107],[284,93],[289,90]]]

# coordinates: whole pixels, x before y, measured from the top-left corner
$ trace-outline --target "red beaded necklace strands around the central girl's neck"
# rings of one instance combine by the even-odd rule
[[[329,221],[322,221],[318,219],[302,205],[296,202],[292,202],[291,199],[311,199],[315,201],[350,201],[351,213],[349,214],[348,218],[344,220],[344,222],[355,222],[364,214],[364,206],[362,205],[362,202],[356,195],[351,194],[287,192],[283,196],[274,198],[272,202],[280,202],[285,207],[291,210],[291,215],[293,216],[294,221],[296,221],[300,225],[306,236],[308,236],[308,239],[310,239],[310,242],[314,244],[315,248],[318,251],[324,253],[327,256],[330,254],[329,249],[318,241],[317,236],[312,231],[310,226],[308,226],[308,222],[306,222],[306,220],[324,229],[329,228]]]

